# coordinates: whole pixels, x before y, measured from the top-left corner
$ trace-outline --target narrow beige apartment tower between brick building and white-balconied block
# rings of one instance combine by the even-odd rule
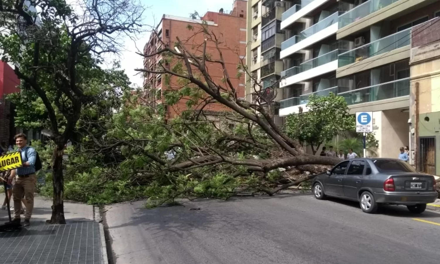
[[[284,64],[280,58],[281,44],[285,40],[281,30],[282,14],[286,11],[285,2],[280,0],[249,0],[248,13],[248,46],[246,64],[252,78],[248,78],[246,98],[256,102],[264,97],[270,101],[278,115],[278,101],[283,98],[279,89]],[[270,100],[268,100],[270,99]],[[267,103],[267,102],[259,102]],[[275,117],[282,124],[282,120]]]

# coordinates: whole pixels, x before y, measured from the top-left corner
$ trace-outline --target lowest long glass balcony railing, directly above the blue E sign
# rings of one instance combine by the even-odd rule
[[[391,99],[410,94],[410,78],[338,93],[348,105]]]

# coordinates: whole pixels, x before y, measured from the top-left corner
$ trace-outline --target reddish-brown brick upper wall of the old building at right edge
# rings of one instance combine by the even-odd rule
[[[411,32],[411,48],[440,40],[440,18],[417,25]]]

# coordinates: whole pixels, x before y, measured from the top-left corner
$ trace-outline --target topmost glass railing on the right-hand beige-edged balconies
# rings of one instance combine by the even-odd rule
[[[347,11],[339,17],[338,28],[343,28],[351,23],[366,17],[398,0],[369,0],[363,4],[358,5],[350,11]]]

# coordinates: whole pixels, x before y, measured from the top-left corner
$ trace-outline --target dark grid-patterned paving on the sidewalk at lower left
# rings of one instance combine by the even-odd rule
[[[101,264],[98,223],[31,224],[0,233],[0,264]]]

